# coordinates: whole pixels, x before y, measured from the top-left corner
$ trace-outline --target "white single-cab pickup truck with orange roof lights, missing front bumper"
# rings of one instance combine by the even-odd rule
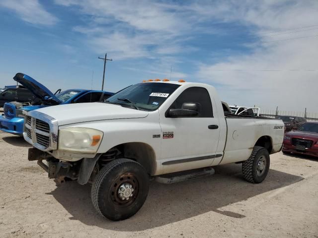
[[[283,121],[224,110],[210,85],[148,81],[104,103],[31,111],[23,136],[34,147],[30,161],[60,182],[91,182],[94,207],[116,221],[138,212],[150,179],[196,178],[229,163],[241,163],[249,182],[265,179],[269,154],[282,148]]]

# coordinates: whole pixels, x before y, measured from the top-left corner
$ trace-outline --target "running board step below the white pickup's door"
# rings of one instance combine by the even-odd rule
[[[182,172],[176,172],[172,174],[160,175],[155,177],[156,182],[160,183],[175,183],[182,182],[190,179],[198,179],[214,174],[214,169],[212,167],[187,170]]]

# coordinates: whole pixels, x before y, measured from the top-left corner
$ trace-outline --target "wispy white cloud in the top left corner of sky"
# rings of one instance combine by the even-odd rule
[[[38,0],[1,0],[0,6],[14,11],[22,20],[31,24],[54,25],[58,21]]]

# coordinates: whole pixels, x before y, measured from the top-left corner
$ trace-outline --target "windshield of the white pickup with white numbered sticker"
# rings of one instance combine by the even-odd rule
[[[114,94],[105,103],[155,111],[179,86],[171,83],[138,83]]]

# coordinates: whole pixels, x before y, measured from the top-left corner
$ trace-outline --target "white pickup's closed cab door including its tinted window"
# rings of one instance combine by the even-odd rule
[[[168,114],[160,115],[164,173],[208,167],[216,157],[219,119],[213,117],[211,98],[205,88],[186,89],[168,111],[182,109],[182,105],[189,102],[200,105],[197,116],[170,118]]]

